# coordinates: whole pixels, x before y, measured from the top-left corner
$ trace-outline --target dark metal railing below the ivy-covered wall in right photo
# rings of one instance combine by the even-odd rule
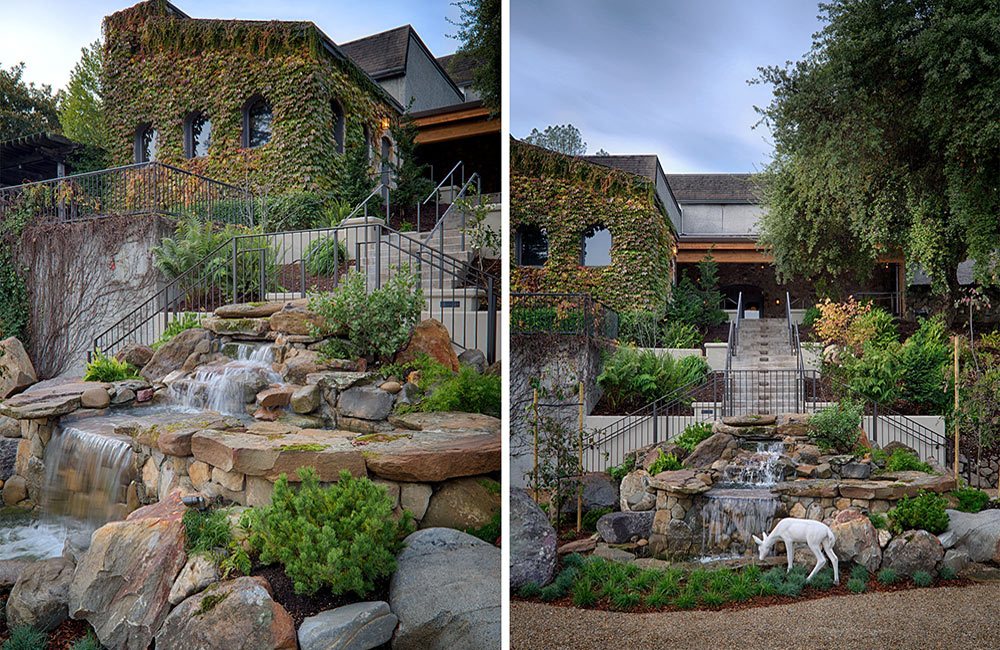
[[[511,293],[510,333],[618,338],[618,312],[585,293]]]

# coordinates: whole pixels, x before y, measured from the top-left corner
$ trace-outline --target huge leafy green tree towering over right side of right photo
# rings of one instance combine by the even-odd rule
[[[761,68],[775,154],[761,240],[779,275],[864,276],[901,251],[954,303],[1000,284],[1000,4],[832,0],[808,54]]]

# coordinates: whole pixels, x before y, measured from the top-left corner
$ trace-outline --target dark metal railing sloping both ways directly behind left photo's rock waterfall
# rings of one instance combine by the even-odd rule
[[[496,278],[369,220],[364,206],[372,196],[355,210],[364,213],[362,223],[231,238],[99,334],[94,349],[114,354],[128,342],[150,345],[171,321],[190,313],[207,316],[224,304],[330,291],[348,272],[363,273],[371,292],[409,269],[425,301],[422,317],[441,321],[457,348],[479,348],[490,363],[495,361]]]

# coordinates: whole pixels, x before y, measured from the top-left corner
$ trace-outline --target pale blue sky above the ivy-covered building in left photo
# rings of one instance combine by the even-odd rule
[[[0,0],[0,65],[23,61],[25,78],[62,88],[80,48],[101,37],[101,20],[138,0]],[[194,18],[311,20],[335,43],[407,23],[435,56],[451,54],[459,10],[450,0],[173,0]]]

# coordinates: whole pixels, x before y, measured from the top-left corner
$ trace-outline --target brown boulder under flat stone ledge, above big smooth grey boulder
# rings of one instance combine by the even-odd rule
[[[500,484],[489,478],[459,478],[431,496],[421,528],[480,528],[500,512]]]

